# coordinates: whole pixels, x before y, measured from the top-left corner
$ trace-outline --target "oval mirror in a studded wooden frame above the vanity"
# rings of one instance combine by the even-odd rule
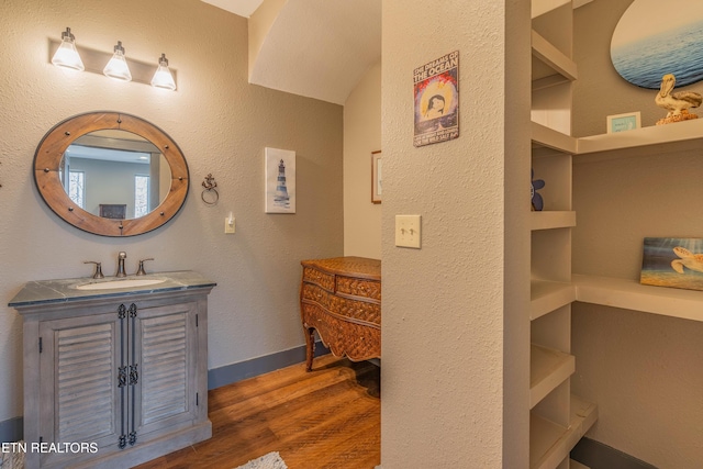
[[[90,112],[54,126],[34,155],[46,204],[77,228],[134,236],[168,222],[188,194],[188,165],[164,131],[130,114]]]

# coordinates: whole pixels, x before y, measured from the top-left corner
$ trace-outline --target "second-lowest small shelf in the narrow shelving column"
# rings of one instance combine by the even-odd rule
[[[529,347],[529,409],[576,371],[573,355],[532,344]]]

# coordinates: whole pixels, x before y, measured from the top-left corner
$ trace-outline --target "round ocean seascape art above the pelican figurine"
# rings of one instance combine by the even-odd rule
[[[678,14],[673,14],[678,12]],[[659,89],[673,74],[677,87],[703,80],[703,1],[635,0],[611,40],[611,60],[627,81]]]

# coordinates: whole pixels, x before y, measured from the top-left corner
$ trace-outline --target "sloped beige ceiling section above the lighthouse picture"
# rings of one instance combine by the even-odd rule
[[[264,0],[202,0],[250,18]],[[249,82],[344,104],[381,59],[380,0],[271,1],[278,11],[249,59]],[[267,14],[270,14],[267,12]],[[259,22],[249,20],[249,38]]]

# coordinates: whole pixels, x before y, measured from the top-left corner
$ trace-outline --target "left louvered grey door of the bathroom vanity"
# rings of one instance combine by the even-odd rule
[[[40,436],[45,443],[115,445],[121,405],[118,309],[40,323]],[[42,454],[42,466],[75,454]],[[85,456],[85,455],[83,455]]]

